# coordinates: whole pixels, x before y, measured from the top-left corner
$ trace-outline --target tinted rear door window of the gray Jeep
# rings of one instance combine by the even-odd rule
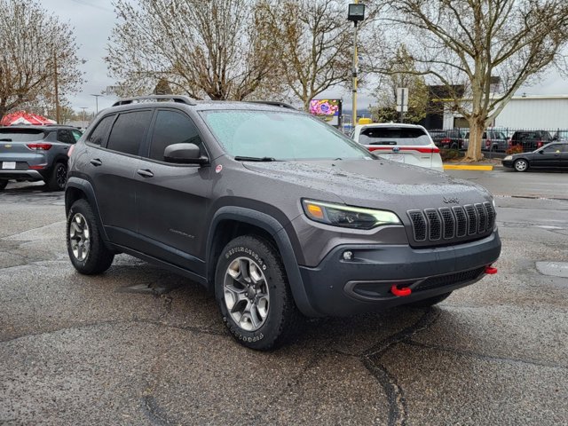
[[[138,155],[138,148],[146,138],[152,111],[120,114],[110,131],[106,147],[124,154]]]

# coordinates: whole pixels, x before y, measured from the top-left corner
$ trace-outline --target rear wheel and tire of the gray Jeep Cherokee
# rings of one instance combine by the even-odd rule
[[[72,237],[71,233],[72,223],[75,225],[73,231],[75,237]],[[83,226],[82,223],[88,230],[88,234],[86,234],[88,244],[85,243],[83,230],[83,249],[88,246],[86,253],[80,251],[81,245],[78,240],[81,238],[82,233],[75,232],[76,226],[81,227]],[[105,272],[110,267],[113,263],[114,253],[106,248],[104,241],[100,238],[95,215],[87,201],[77,200],[73,203],[67,215],[66,230],[67,253],[71,263],[78,272],[85,275],[94,275]],[[84,256],[79,256],[80,253],[83,253]]]

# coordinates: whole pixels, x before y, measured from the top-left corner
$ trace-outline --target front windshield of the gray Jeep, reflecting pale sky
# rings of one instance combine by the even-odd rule
[[[329,124],[304,114],[205,111],[205,121],[227,154],[274,160],[374,158]]]

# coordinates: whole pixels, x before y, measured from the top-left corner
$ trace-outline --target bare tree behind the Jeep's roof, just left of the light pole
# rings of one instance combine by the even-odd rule
[[[269,4],[278,75],[308,110],[310,100],[351,80],[352,38],[347,8],[336,0]]]

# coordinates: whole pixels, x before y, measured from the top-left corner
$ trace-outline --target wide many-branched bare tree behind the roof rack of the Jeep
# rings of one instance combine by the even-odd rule
[[[272,68],[260,1],[116,0],[106,57],[116,91],[162,82],[195,99],[245,99]]]

